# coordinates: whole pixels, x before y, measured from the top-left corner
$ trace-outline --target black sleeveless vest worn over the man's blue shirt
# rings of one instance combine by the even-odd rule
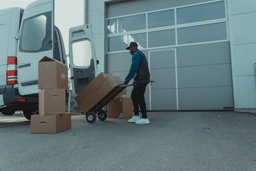
[[[150,82],[150,70],[148,70],[146,56],[139,50],[137,50],[135,53],[140,54],[141,60],[140,60],[140,65],[136,72],[134,81],[136,83],[149,83]]]

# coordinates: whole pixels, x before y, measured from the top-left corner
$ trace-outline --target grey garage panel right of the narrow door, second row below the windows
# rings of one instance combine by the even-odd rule
[[[178,88],[231,85],[230,64],[178,68]]]

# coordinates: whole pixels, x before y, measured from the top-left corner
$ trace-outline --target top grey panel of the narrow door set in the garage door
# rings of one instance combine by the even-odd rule
[[[175,50],[150,52],[150,68],[175,67]]]

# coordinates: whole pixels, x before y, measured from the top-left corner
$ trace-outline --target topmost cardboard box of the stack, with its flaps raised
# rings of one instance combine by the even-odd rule
[[[38,89],[69,89],[68,68],[65,64],[48,57],[38,63]]]

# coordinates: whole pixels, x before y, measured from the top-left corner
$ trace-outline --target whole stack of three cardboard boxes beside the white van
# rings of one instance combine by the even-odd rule
[[[31,133],[58,133],[71,128],[66,113],[67,66],[48,57],[38,64],[39,114],[31,116]]]

